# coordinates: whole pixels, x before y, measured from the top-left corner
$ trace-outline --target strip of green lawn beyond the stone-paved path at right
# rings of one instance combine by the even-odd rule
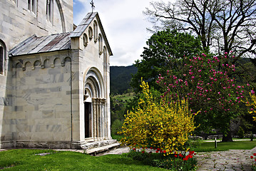
[[[210,152],[210,151],[225,151],[225,150],[251,150],[256,146],[255,141],[234,141],[234,142],[217,142],[217,148],[215,148],[215,142],[200,142],[198,147],[192,148],[195,152]]]

